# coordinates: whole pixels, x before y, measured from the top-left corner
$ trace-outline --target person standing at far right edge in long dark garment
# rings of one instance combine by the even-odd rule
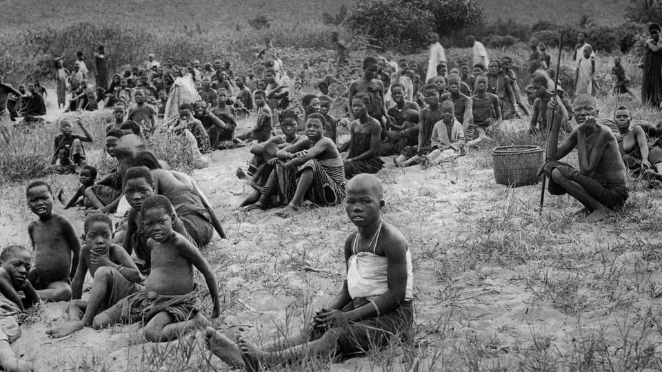
[[[662,43],[660,43],[660,25],[648,25],[650,39],[641,57],[641,102],[659,108],[662,103]]]

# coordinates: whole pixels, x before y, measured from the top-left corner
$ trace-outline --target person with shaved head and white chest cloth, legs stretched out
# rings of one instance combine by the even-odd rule
[[[340,360],[398,339],[411,341],[412,258],[403,234],[381,219],[383,206],[377,177],[359,174],[348,181],[345,210],[357,231],[345,240],[346,278],[334,300],[300,331],[260,347],[208,327],[205,341],[212,353],[232,367],[259,371],[307,356]]]

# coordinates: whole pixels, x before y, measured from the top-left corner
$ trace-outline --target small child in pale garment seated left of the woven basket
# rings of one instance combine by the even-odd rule
[[[464,141],[462,124],[455,117],[453,103],[443,101],[441,121],[437,121],[432,130],[432,151],[427,155],[430,163],[439,165],[443,161],[452,161],[461,156]]]

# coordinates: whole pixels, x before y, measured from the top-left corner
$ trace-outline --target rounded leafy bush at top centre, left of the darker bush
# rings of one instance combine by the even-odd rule
[[[343,23],[381,50],[412,52],[425,45],[434,16],[405,0],[368,0],[350,8]]]

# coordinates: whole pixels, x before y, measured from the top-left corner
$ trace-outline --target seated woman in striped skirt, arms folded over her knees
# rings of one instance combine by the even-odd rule
[[[325,118],[321,114],[308,116],[305,141],[297,141],[281,149],[276,156],[276,172],[265,185],[265,192],[255,207],[265,209],[275,192],[289,201],[277,212],[288,217],[296,213],[303,200],[314,205],[337,205],[345,200],[345,168],[343,158],[330,138],[324,136]]]

